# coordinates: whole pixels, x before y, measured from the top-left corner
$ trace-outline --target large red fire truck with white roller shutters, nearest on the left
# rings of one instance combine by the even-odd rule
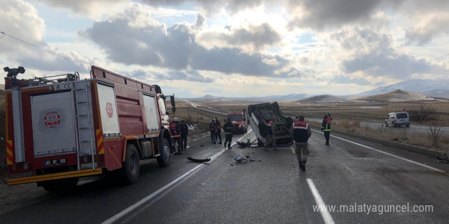
[[[96,66],[89,79],[78,72],[18,79],[23,67],[4,70],[8,185],[58,191],[109,173],[132,184],[139,160],[169,165],[169,112],[159,86]]]

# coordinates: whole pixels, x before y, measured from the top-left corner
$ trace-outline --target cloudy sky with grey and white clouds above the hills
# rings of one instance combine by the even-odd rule
[[[0,35],[0,65],[22,78],[96,65],[198,97],[449,77],[445,0],[0,0],[0,16],[0,31],[79,63]]]

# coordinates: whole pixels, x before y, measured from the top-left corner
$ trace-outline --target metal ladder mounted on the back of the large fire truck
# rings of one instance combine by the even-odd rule
[[[78,154],[78,170],[90,166],[90,165],[81,166],[80,156],[83,155],[91,155],[92,170],[95,170],[95,160],[94,160],[95,147],[92,141],[92,127],[91,127],[92,123],[90,115],[87,79],[84,79],[84,87],[81,88],[79,88],[79,86],[78,87],[74,86],[72,82],[71,100],[72,100],[72,111],[74,115],[73,123],[75,129],[75,141],[76,141],[75,146],[77,148]]]

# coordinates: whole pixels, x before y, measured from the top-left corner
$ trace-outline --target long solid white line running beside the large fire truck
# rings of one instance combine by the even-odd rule
[[[243,135],[241,138],[238,139],[238,141],[241,141],[241,139],[243,137],[245,137],[247,134],[251,133],[251,131],[253,131],[252,129],[248,130],[248,132]],[[233,143],[232,145],[234,145],[236,143]],[[231,146],[232,146],[231,145]],[[218,152],[217,154],[215,154],[214,156],[211,157],[211,161],[214,160],[215,158],[217,158],[219,155],[221,155],[224,151],[226,151],[226,149],[221,150],[220,152]],[[142,200],[136,202],[134,205],[131,205],[130,207],[124,209],[123,211],[119,212],[118,214],[110,217],[108,220],[102,222],[102,224],[109,224],[109,223],[114,223],[115,221],[117,221],[118,219],[120,219],[121,217],[127,215],[128,213],[132,212],[134,209],[138,208],[139,206],[143,205],[144,203],[148,202],[149,200],[153,199],[154,197],[156,197],[156,195],[160,194],[161,192],[163,192],[164,190],[166,190],[167,188],[169,188],[170,186],[172,186],[173,184],[176,184],[178,181],[183,180],[183,178],[185,178],[186,176],[188,176],[190,173],[202,169],[207,163],[201,163],[197,166],[195,166],[192,170],[188,171],[187,173],[183,174],[181,177],[176,178],[175,180],[171,181],[169,184],[159,188],[158,190],[156,190],[155,192],[153,192],[152,194],[148,195],[147,197],[143,198]],[[184,181],[184,180],[183,180]],[[173,189],[173,188],[172,188]],[[170,189],[171,190],[171,189]],[[167,192],[166,192],[167,193]]]

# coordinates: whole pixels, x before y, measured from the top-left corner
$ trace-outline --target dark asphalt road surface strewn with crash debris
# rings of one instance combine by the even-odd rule
[[[47,199],[2,214],[0,220],[2,223],[447,223],[449,164],[334,133],[331,145],[325,146],[323,134],[312,132],[305,172],[298,169],[290,147],[264,152],[262,148],[240,149],[234,144],[232,150],[224,150],[204,137],[189,143],[184,155],[173,156],[168,167],[160,169],[155,160],[141,165],[136,184],[122,186],[108,178],[98,178],[69,192],[47,193]],[[252,141],[255,136],[248,130],[245,135],[234,135],[234,143],[239,138]],[[255,161],[236,162],[234,157],[239,153]],[[212,157],[212,161],[190,162],[186,159],[190,155]],[[316,205],[335,205],[336,211],[314,211]],[[414,206],[428,209],[431,206],[433,211],[391,211],[391,206],[403,209],[407,205],[409,211]],[[343,211],[344,206],[348,212]],[[349,211],[351,206],[356,208],[355,212]],[[378,209],[367,214],[368,206]]]

